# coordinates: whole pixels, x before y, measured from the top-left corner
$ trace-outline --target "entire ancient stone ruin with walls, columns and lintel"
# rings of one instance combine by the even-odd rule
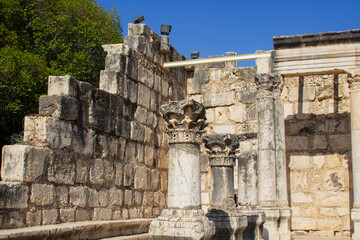
[[[99,88],[50,76],[2,149],[0,239],[360,239],[359,30],[242,68],[128,32]]]

